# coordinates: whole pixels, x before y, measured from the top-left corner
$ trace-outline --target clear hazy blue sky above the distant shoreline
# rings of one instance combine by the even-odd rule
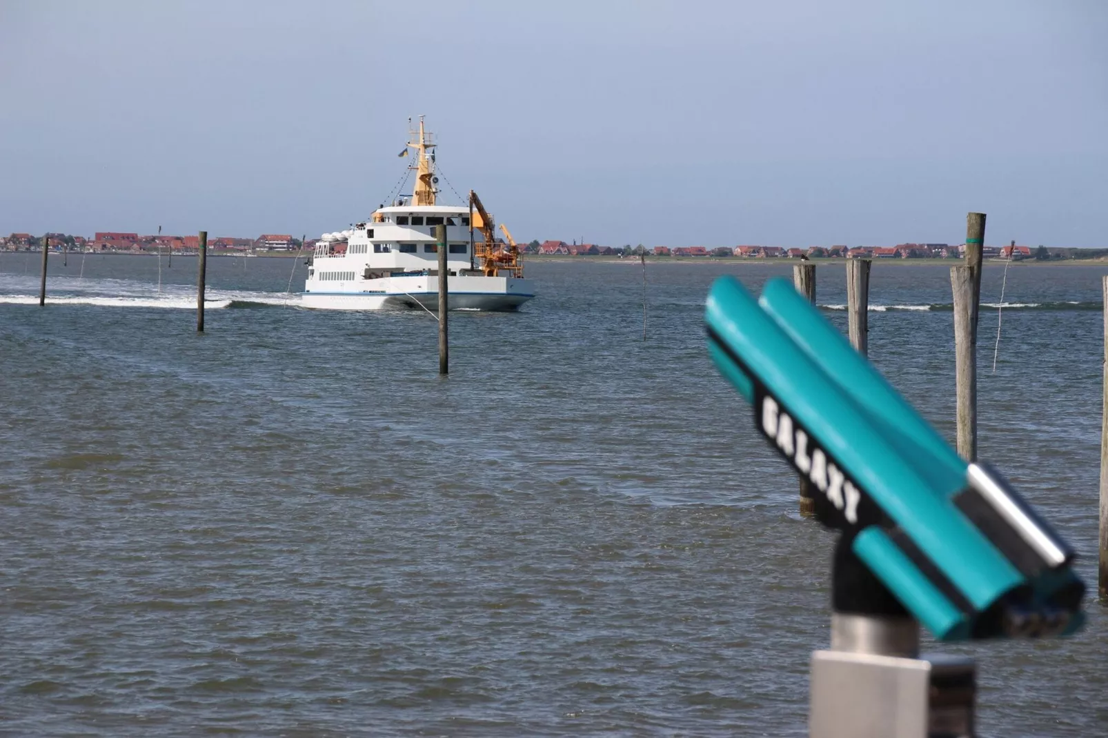
[[[346,228],[423,114],[444,202],[517,240],[961,243],[973,211],[1108,247],[1106,38],[1099,0],[0,0],[0,234]]]

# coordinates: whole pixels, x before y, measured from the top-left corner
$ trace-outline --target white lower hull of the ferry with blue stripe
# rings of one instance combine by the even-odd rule
[[[438,275],[382,277],[339,281],[326,290],[304,293],[300,304],[321,310],[419,309],[439,307]],[[514,277],[447,277],[447,307],[450,310],[515,310],[534,297],[530,279]]]

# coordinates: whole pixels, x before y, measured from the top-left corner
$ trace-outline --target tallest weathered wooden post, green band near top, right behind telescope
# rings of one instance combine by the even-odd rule
[[[966,216],[966,263],[951,267],[954,293],[954,376],[958,454],[977,460],[977,312],[981,306],[985,214]]]

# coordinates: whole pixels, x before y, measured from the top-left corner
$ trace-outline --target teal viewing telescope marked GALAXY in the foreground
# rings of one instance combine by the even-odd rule
[[[810,482],[817,520],[842,531],[833,642],[835,617],[871,635],[914,618],[946,642],[1080,627],[1073,549],[999,473],[960,458],[789,281],[770,279],[755,299],[722,277],[706,322],[712,360],[758,432]],[[812,735],[869,735],[815,729],[815,666]]]

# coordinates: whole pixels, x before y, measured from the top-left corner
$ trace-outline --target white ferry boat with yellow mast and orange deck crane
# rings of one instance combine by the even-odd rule
[[[515,310],[534,297],[523,278],[523,254],[501,224],[505,240],[481,198],[470,191],[464,205],[440,205],[434,137],[409,125],[400,156],[414,152],[416,186],[378,207],[363,223],[325,234],[310,256],[301,305],[337,310],[438,309],[439,248],[435,226],[447,233],[447,307],[450,310]]]

